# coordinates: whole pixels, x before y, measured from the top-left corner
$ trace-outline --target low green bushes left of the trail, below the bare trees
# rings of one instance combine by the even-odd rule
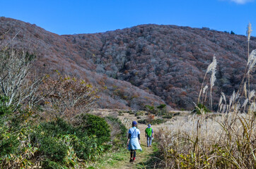
[[[10,168],[28,168],[33,165],[33,158],[41,161],[43,168],[78,168],[78,158],[95,160],[110,148],[110,130],[103,118],[95,115],[86,117],[84,124],[92,124],[86,125],[86,129],[61,118],[34,127],[23,125],[13,129],[1,123],[0,168],[9,168],[6,167],[8,161],[13,161]],[[97,131],[103,128],[106,133]],[[124,128],[122,134],[126,132]]]

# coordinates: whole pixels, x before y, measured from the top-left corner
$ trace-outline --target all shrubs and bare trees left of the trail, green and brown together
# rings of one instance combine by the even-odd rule
[[[74,115],[69,113],[77,113],[74,112],[76,107],[93,104],[93,101],[98,99],[98,89],[86,84],[84,80],[68,76],[60,77],[59,80],[28,80],[27,71],[35,55],[22,51],[15,52],[12,57],[6,53],[5,58],[1,57],[5,62],[0,62],[1,70],[4,70],[2,72],[14,75],[2,75],[4,77],[1,82],[3,90],[0,92],[0,168],[85,168],[86,161],[95,161],[111,147],[110,126],[105,119],[84,114],[75,118],[77,123],[71,124],[62,118],[39,123],[35,117],[40,110],[45,111],[47,115],[50,115],[49,111],[59,110],[59,114],[66,113],[66,116],[63,115],[66,119],[74,118]],[[10,63],[13,66],[3,63]],[[18,78],[20,84],[16,84],[15,78]],[[45,84],[44,87],[42,82]],[[13,92],[12,89],[15,87]],[[8,91],[9,89],[11,91]],[[36,104],[41,97],[45,97],[44,107]],[[120,125],[120,122],[117,123]],[[126,129],[124,132],[121,127],[121,131],[124,134]],[[120,137],[123,137],[122,134]]]

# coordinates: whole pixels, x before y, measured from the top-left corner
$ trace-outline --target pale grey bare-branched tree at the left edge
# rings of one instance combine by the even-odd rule
[[[6,96],[6,106],[13,106],[14,110],[21,104],[28,104],[28,108],[38,102],[39,94],[36,94],[42,78],[32,77],[30,70],[35,55],[23,50],[5,47],[0,51],[0,94]]]

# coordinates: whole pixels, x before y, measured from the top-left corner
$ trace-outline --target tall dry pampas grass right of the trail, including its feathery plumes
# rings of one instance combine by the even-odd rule
[[[250,32],[249,24],[248,45]],[[206,74],[211,71],[212,84],[216,80],[212,69],[214,62],[206,71]],[[200,109],[202,115],[189,115],[161,127],[155,134],[163,153],[161,168],[256,168],[256,103],[255,90],[250,89],[250,74],[255,63],[256,50],[248,51],[248,63],[240,87],[230,99],[221,93],[219,113],[206,115]],[[204,99],[206,88],[203,87],[204,84],[198,103]]]

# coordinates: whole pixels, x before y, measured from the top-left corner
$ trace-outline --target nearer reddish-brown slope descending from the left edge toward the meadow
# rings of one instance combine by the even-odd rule
[[[142,109],[146,104],[165,104],[160,97],[149,94],[129,82],[91,71],[95,65],[78,54],[76,45],[36,25],[1,17],[0,35],[1,46],[10,43],[17,49],[35,52],[35,68],[41,73],[52,74],[54,70],[59,70],[60,73],[74,75],[99,87],[101,97],[98,105],[101,108]]]

